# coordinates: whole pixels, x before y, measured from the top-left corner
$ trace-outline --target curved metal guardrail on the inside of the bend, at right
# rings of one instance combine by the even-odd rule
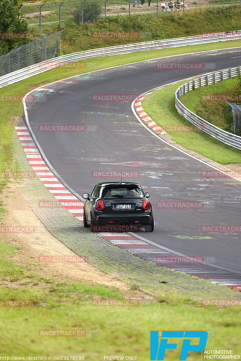
[[[216,84],[217,82],[224,81],[225,79],[231,79],[240,74],[240,67],[224,69],[220,71],[214,71],[203,75],[202,77],[193,79],[185,84],[182,84],[175,94],[175,106],[178,113],[184,117],[188,122],[202,130],[212,138],[219,140],[220,142],[230,145],[233,148],[241,150],[241,136],[229,133],[223,129],[216,127],[209,123],[205,119],[197,116],[197,114],[191,112],[184,104],[181,103],[180,98],[189,93],[191,90],[195,90],[199,87]]]

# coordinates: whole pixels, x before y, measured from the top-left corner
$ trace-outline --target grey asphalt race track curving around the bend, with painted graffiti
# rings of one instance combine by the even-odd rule
[[[204,66],[163,70],[156,69],[157,62],[198,62]],[[231,177],[203,178],[201,171],[212,168],[162,142],[143,127],[132,112],[131,101],[92,100],[95,94],[140,95],[163,84],[240,64],[241,47],[152,59],[48,84],[31,92],[41,96],[43,102],[26,104],[29,129],[57,177],[79,199],[98,182],[119,180],[94,177],[93,171],[139,171],[138,177],[124,180],[139,182],[151,194],[155,230],[141,233],[141,237],[241,273],[240,233],[201,232],[202,225],[241,224],[240,182]],[[165,99],[160,102],[164,107]],[[39,125],[46,124],[85,125],[86,131],[38,130]],[[161,126],[165,126],[165,119]],[[158,201],[180,200],[202,201],[205,206],[156,208]]]

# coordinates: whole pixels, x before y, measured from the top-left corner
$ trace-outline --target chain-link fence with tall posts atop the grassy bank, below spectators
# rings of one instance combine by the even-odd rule
[[[195,8],[205,8],[220,5],[239,4],[241,0],[185,0],[184,7],[175,4],[177,0],[173,0],[173,8],[171,10],[182,10]],[[38,28],[56,25],[56,23],[64,23],[68,20],[77,20],[79,22],[95,20],[95,12],[90,11],[93,0],[70,0],[46,2],[41,4],[23,5],[21,12],[25,15],[29,26],[37,26]],[[181,2],[181,1],[180,1]],[[101,16],[110,15],[131,15],[142,13],[156,13],[158,16],[161,11],[169,10],[161,6],[161,0],[98,0],[101,7]],[[165,1],[168,5],[169,0]],[[76,10],[77,8],[77,10]]]

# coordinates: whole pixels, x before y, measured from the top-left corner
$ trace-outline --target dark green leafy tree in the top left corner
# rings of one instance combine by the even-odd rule
[[[26,19],[20,12],[20,0],[0,0],[0,55],[29,43],[29,39],[4,40],[3,33],[29,32]]]

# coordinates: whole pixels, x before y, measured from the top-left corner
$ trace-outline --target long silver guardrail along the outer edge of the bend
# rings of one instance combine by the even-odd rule
[[[215,34],[204,34],[196,36],[188,36],[186,38],[175,38],[175,39],[164,39],[164,40],[155,40],[151,42],[135,43],[135,44],[126,44],[118,45],[108,48],[99,48],[91,49],[87,51],[81,51],[77,53],[62,55],[56,58],[52,58],[45,62],[34,64],[23,68],[21,70],[13,71],[7,75],[0,77],[0,88],[19,82],[23,79],[29,78],[33,75],[43,73],[48,69],[51,69],[55,66],[108,55],[120,55],[134,53],[137,51],[146,51],[153,49],[164,49],[164,48],[173,48],[180,47],[185,45],[197,45],[197,44],[206,44],[206,43],[215,43],[222,42],[227,40],[241,39],[241,30],[237,31],[228,31],[228,32],[219,32]],[[51,65],[52,64],[52,65]]]

